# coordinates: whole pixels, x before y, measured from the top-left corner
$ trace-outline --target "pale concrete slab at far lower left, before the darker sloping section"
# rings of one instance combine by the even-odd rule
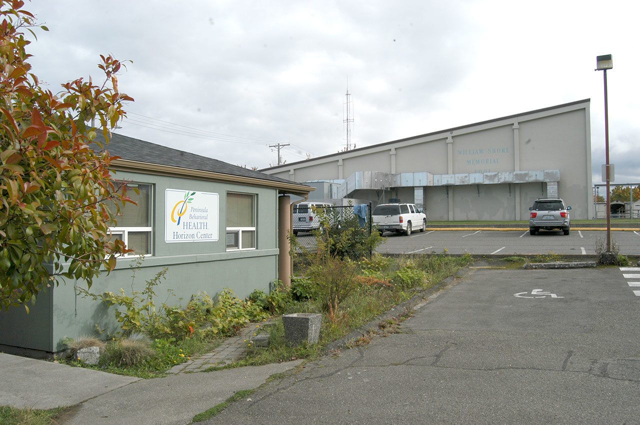
[[[0,353],[0,406],[73,406],[140,378]]]

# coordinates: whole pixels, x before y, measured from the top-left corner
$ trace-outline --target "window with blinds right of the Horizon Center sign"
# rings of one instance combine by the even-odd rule
[[[254,194],[227,193],[227,251],[255,249]]]

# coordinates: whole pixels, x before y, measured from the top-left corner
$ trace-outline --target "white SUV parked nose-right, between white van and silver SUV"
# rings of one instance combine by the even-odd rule
[[[427,216],[413,204],[380,204],[374,208],[372,222],[382,235],[385,231],[411,235],[414,229],[427,228]]]

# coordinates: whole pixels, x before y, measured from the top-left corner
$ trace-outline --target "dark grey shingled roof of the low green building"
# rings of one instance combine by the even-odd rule
[[[97,136],[102,143],[104,137],[99,133]],[[229,176],[239,176],[246,178],[257,178],[267,180],[269,182],[299,184],[285,180],[269,174],[260,173],[244,167],[234,166],[214,158],[203,157],[195,153],[189,153],[177,149],[167,148],[160,144],[134,139],[122,134],[111,134],[109,144],[105,145],[105,149],[125,160],[146,162],[148,164],[159,164],[162,166],[180,167],[184,169],[209,171],[211,173],[228,174]]]

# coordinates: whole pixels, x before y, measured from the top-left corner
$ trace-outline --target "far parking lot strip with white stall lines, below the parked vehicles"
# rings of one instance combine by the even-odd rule
[[[598,238],[606,238],[605,231],[575,230],[564,236],[561,231],[541,231],[536,236],[525,229],[497,230],[428,230],[404,236],[385,233],[378,252],[383,254],[413,254],[432,251],[449,254],[582,254],[595,255]],[[640,254],[640,231],[612,231],[611,238],[625,255]]]

